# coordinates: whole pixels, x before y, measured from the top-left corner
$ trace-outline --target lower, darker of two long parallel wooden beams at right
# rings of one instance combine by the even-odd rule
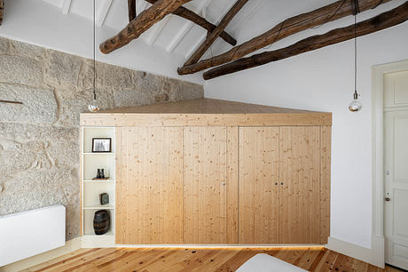
[[[383,12],[372,19],[357,23],[356,34],[357,36],[365,36],[385,28],[396,26],[406,20],[408,20],[408,1],[389,12]],[[309,38],[299,41],[296,44],[292,44],[286,48],[271,52],[263,52],[248,58],[235,60],[231,63],[213,68],[204,73],[204,79],[208,80],[217,76],[224,76],[245,70],[247,68],[261,66],[272,61],[293,57],[303,52],[310,52],[327,45],[338,44],[354,38],[354,29],[354,25],[346,28],[333,29],[323,35],[310,36]]]

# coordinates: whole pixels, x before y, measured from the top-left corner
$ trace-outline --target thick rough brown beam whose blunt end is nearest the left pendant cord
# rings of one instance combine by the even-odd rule
[[[123,28],[116,36],[106,40],[99,45],[100,52],[109,53],[129,44],[132,40],[137,39],[153,24],[163,19],[166,15],[177,10],[182,4],[192,0],[159,0],[150,8],[141,12],[135,20],[129,22],[126,28]]]

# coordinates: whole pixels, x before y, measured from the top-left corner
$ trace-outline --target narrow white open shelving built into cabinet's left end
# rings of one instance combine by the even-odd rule
[[[115,156],[114,156],[113,127],[82,127],[82,235],[88,239],[95,237],[95,241],[114,241],[114,208],[115,208]],[[92,138],[110,138],[112,152],[92,153]],[[105,170],[108,180],[92,180],[97,175],[98,169]],[[99,203],[99,194],[109,195],[109,204]],[[96,236],[93,230],[93,217],[95,212],[106,210],[110,217],[110,228],[105,235]],[[106,240],[106,241],[107,241]]]

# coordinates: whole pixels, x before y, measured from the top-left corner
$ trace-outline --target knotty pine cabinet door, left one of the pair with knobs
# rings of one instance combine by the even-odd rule
[[[239,128],[239,244],[279,243],[279,128]]]

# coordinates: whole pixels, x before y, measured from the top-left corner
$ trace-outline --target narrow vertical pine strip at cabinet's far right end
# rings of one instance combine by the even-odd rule
[[[320,244],[330,236],[332,127],[320,127]]]

